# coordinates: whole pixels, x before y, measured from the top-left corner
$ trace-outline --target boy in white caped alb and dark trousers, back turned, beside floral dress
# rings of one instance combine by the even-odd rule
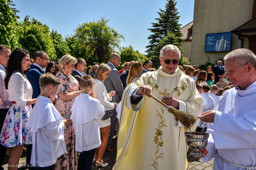
[[[104,106],[93,93],[93,79],[83,76],[80,80],[81,94],[75,98],[71,108],[73,127],[76,136],[75,150],[80,152],[78,170],[91,170],[96,148],[101,145],[98,120],[105,114]]]

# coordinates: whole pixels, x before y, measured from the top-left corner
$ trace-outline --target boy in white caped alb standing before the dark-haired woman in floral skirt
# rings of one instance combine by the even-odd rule
[[[63,118],[50,99],[57,93],[60,81],[51,73],[40,76],[41,93],[27,123],[32,134],[30,163],[36,169],[53,170],[58,157],[67,153]]]

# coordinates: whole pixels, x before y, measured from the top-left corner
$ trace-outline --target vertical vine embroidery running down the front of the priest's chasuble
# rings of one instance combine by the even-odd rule
[[[164,144],[164,142],[162,141],[162,135],[163,135],[162,128],[167,127],[165,125],[166,119],[163,119],[164,110],[161,108],[161,113],[158,110],[156,110],[156,111],[157,111],[156,115],[158,115],[160,117],[160,119],[158,121],[158,128],[156,128],[156,133],[155,133],[155,137],[154,137],[154,142],[156,144],[155,158],[152,158],[152,163],[150,164],[151,166],[154,167],[155,170],[158,169],[158,165],[159,165],[158,159],[163,158],[162,155],[164,154],[164,153],[159,154],[159,151],[160,151],[159,147],[163,147],[163,144]]]

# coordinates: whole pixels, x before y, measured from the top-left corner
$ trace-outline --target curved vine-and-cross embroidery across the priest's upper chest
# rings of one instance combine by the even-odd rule
[[[151,75],[151,76],[152,76],[152,75]],[[185,91],[186,88],[188,87],[188,86],[187,86],[187,85],[188,85],[188,79],[186,79],[186,80],[184,81],[184,84],[183,84],[182,86],[177,86],[177,87],[173,88],[170,93],[167,93],[167,89],[166,89],[166,88],[164,89],[164,92],[160,92],[160,91],[158,90],[158,87],[159,87],[159,86],[158,86],[156,83],[154,83],[154,82],[152,81],[151,76],[149,76],[149,74],[147,73],[147,80],[146,80],[146,81],[147,81],[148,85],[151,86],[151,87],[153,88],[153,90],[157,90],[158,93],[159,93],[159,94],[162,94],[164,97],[165,97],[165,96],[170,96],[172,93],[177,93],[177,95],[178,95],[178,97],[179,97],[179,96],[181,95],[181,93],[184,93],[184,91]]]

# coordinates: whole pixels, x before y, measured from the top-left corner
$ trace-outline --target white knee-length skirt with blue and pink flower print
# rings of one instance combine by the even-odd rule
[[[21,144],[32,144],[31,133],[26,127],[31,105],[17,107],[13,104],[5,117],[5,122],[0,133],[0,143],[5,147],[15,147]]]

